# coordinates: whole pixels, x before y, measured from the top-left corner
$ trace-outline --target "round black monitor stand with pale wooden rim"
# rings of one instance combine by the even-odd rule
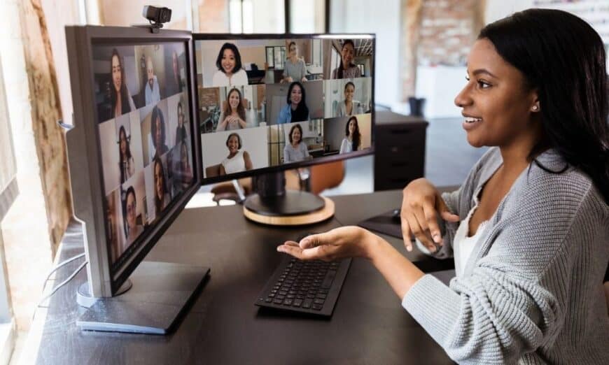
[[[243,213],[248,220],[274,226],[313,224],[334,215],[334,202],[300,190],[286,190],[283,172],[252,178],[255,194],[247,197]]]

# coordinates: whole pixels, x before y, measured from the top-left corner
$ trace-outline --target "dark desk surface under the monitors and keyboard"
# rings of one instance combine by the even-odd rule
[[[40,308],[24,353],[39,364],[451,364],[442,348],[401,307],[391,287],[364,259],[354,259],[330,320],[258,310],[253,303],[279,264],[275,248],[306,231],[384,213],[401,192],[333,196],[335,218],[313,227],[269,228],[248,222],[241,206],[183,210],[146,259],[211,266],[211,278],[169,336],[80,331],[75,321],[82,271]],[[365,211],[353,207],[366,207]],[[425,271],[441,262],[388,238]],[[83,252],[72,226],[60,260]],[[59,270],[60,282],[80,262]]]

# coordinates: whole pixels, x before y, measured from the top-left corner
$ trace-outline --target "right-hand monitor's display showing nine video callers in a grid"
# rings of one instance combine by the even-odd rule
[[[193,36],[203,183],[372,151],[374,36]]]

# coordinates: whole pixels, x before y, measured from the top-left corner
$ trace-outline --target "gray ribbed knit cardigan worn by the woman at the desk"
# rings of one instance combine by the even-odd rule
[[[538,161],[565,162],[549,150]],[[465,218],[472,194],[502,164],[491,148],[456,192],[442,198]],[[442,227],[452,255],[458,223]],[[500,202],[462,278],[447,287],[418,280],[402,306],[449,357],[463,364],[609,364],[603,275],[609,260],[609,206],[581,171],[525,169]],[[477,250],[474,250],[477,252]]]

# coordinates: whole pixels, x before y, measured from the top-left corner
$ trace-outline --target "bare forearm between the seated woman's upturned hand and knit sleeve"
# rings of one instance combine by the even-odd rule
[[[370,238],[367,241],[370,243],[368,258],[401,300],[425,273],[383,238],[370,232]]]

